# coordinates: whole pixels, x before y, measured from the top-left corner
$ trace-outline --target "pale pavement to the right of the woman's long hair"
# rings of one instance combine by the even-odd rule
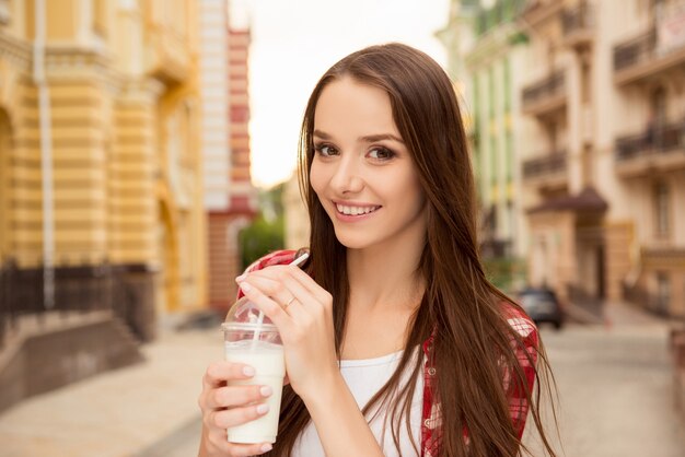
[[[560,332],[543,328],[542,337],[558,387],[561,455],[685,455],[685,426],[673,407],[665,326],[569,326]],[[549,413],[546,422],[554,424]],[[532,455],[542,456],[530,423]],[[555,449],[561,450],[549,430]]]

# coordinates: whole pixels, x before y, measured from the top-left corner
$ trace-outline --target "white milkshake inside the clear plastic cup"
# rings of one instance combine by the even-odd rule
[[[231,380],[230,386],[264,385],[274,394],[267,399],[269,411],[259,419],[228,429],[231,443],[275,443],[278,432],[280,399],[286,376],[283,347],[266,341],[242,340],[225,342],[225,360],[255,368],[255,376]]]

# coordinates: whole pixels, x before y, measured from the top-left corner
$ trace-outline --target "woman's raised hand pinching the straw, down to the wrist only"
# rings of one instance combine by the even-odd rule
[[[335,351],[333,297],[295,266],[274,266],[236,279],[245,296],[278,327],[286,371],[306,402],[340,376]]]

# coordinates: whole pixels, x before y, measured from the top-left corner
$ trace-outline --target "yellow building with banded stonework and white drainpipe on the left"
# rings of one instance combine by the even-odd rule
[[[207,302],[196,9],[0,0],[0,263],[51,258],[57,308],[108,266],[142,339]]]

